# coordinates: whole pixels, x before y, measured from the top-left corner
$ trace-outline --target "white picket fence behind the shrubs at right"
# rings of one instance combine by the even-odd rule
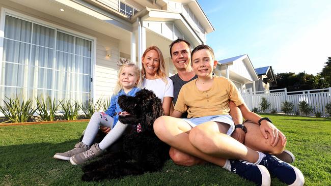
[[[252,110],[254,107],[260,109],[260,103],[262,98],[266,98],[271,103],[267,112],[271,109],[277,109],[277,112],[281,112],[282,103],[285,101],[292,102],[294,105],[294,113],[299,112],[298,104],[301,101],[306,101],[313,107],[315,112],[320,112],[322,116],[326,116],[325,105],[331,103],[331,87],[323,89],[313,90],[301,90],[301,91],[287,91],[286,88],[264,90],[264,91],[252,91],[252,88],[241,91],[241,95],[245,100],[246,105]],[[294,114],[293,113],[293,114]],[[313,115],[313,114],[312,114]]]

